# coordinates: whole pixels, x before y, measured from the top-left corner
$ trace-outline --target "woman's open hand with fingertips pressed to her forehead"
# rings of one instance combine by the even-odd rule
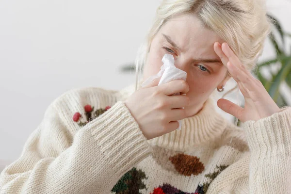
[[[232,114],[242,122],[257,121],[280,112],[272,97],[268,94],[263,84],[253,77],[239,58],[226,43],[214,44],[214,50],[222,63],[227,67],[231,77],[238,83],[245,99],[244,108],[226,99],[219,99],[217,105],[226,113]]]

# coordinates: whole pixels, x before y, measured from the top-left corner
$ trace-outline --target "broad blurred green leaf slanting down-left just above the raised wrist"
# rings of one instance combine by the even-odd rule
[[[279,96],[279,86],[282,81],[286,80],[289,72],[291,71],[291,56],[288,58],[288,60],[284,60],[282,63],[282,68],[278,72],[278,74],[275,76],[275,78],[272,81],[271,87],[268,90],[270,96],[277,101]]]

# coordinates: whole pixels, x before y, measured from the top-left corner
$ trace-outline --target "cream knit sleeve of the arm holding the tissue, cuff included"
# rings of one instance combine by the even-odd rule
[[[0,174],[0,194],[108,194],[151,153],[127,107],[111,109],[72,137],[52,103],[21,156]]]

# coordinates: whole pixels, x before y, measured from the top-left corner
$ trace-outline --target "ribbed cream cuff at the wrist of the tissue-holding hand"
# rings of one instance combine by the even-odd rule
[[[138,123],[121,101],[89,124],[100,146],[98,151],[115,166],[126,168],[141,162],[152,152]]]

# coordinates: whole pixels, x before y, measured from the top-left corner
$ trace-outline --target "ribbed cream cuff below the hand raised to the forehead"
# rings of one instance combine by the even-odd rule
[[[291,107],[258,121],[247,121],[244,130],[251,151],[291,153]]]

